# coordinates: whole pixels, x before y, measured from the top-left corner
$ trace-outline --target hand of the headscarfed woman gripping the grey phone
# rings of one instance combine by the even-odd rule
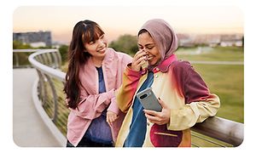
[[[150,110],[143,111],[145,112],[145,116],[148,118],[149,122],[153,122],[158,125],[163,125],[170,122],[171,110],[161,99],[159,99],[159,103],[162,106],[161,112]]]

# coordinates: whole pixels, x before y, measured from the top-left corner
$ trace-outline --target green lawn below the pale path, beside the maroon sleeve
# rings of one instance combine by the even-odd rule
[[[211,92],[218,94],[221,106],[217,116],[243,122],[243,65],[194,65]]]

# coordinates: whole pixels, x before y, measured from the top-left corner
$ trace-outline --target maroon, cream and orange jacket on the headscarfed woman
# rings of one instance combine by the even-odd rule
[[[130,131],[133,115],[132,105],[138,89],[146,80],[148,71],[132,71],[126,67],[123,84],[116,93],[121,111],[127,112],[119,131],[116,146],[123,146]],[[187,61],[177,60],[172,54],[154,68],[151,86],[157,98],[171,109],[170,122],[157,125],[147,120],[143,147],[191,145],[190,127],[203,122],[208,116],[216,115],[220,102],[218,96],[210,94],[206,83]],[[138,130],[139,131],[139,130]],[[136,134],[136,133],[134,133]]]

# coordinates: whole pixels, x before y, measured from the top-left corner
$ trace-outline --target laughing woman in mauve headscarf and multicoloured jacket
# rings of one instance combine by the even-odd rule
[[[117,92],[119,109],[127,114],[116,146],[189,147],[189,128],[216,115],[218,96],[210,93],[188,61],[177,59],[177,36],[165,20],[148,20],[137,38],[139,51]],[[160,112],[144,110],[137,99],[145,88],[152,88],[159,99]]]

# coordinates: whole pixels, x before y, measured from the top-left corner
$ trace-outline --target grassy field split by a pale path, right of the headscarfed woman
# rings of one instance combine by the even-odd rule
[[[179,48],[177,56],[183,60],[243,61],[243,48]],[[197,54],[195,54],[198,52]],[[221,106],[217,116],[244,122],[244,65],[193,64],[207,82],[208,88],[218,94]]]

